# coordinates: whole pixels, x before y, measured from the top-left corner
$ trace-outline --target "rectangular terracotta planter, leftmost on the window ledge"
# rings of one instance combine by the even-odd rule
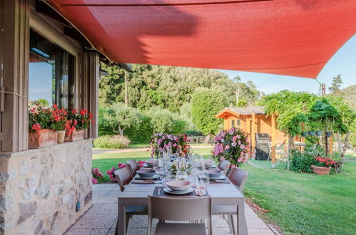
[[[57,144],[57,132],[55,130],[43,129],[29,132],[29,149],[39,149]]]

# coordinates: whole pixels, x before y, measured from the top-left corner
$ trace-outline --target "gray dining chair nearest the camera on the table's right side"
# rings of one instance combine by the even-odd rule
[[[232,167],[228,175],[228,179],[232,182],[235,187],[242,193],[245,183],[248,179],[248,172],[237,167]],[[213,206],[213,215],[223,215],[228,216],[228,224],[230,227],[230,233],[236,234],[233,215],[238,214],[237,208],[235,206]]]

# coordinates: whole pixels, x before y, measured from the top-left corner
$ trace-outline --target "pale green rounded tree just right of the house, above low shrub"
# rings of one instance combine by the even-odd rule
[[[141,123],[138,112],[134,108],[126,108],[123,103],[113,103],[101,108],[99,115],[99,125],[111,127],[119,135],[123,135],[126,128]]]

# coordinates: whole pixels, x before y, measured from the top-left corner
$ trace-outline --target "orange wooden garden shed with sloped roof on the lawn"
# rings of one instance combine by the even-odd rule
[[[224,108],[217,115],[224,119],[224,130],[231,127],[240,128],[250,135],[252,150],[255,150],[255,133],[267,133],[272,146],[282,144],[286,137],[285,133],[277,129],[277,116],[267,115],[263,106],[250,105],[245,108]]]

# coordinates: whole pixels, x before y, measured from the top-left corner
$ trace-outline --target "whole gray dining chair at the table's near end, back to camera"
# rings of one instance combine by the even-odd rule
[[[148,235],[152,232],[152,219],[160,221],[195,221],[208,219],[209,234],[213,234],[211,224],[211,197],[153,197],[148,195]],[[206,235],[205,223],[158,223],[156,235]]]

